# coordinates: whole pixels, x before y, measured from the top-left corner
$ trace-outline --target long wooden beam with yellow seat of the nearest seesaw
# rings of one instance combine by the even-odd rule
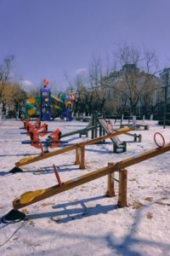
[[[97,171],[90,172],[80,177],[73,178],[71,180],[66,181],[65,183],[62,183],[61,185],[55,185],[48,189],[38,189],[35,191],[26,192],[20,195],[20,198],[14,199],[13,201],[14,210],[29,206],[37,201],[41,201],[50,196],[57,195],[66,190],[76,188],[77,186],[80,186],[84,183],[88,183],[90,181],[93,181],[94,179],[103,177],[107,174],[111,174],[113,172],[120,172],[121,170],[124,170],[124,168],[126,168],[127,166],[133,166],[143,160],[148,160],[151,157],[154,157],[158,154],[166,153],[169,150],[170,150],[170,143],[164,147],[155,148],[155,149],[149,150],[148,152],[144,152],[142,154],[127,158],[127,160],[122,160],[120,162],[117,162],[115,165],[111,165],[111,166],[109,165]]]

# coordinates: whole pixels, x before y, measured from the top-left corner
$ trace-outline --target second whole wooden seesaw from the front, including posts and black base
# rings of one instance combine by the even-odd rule
[[[111,137],[116,137],[118,135],[126,133],[127,131],[131,131],[131,129],[130,128],[121,128],[121,129],[117,130],[116,132],[111,133],[110,135],[106,135],[106,136],[103,136],[103,137],[97,137],[97,138],[88,140],[86,142],[77,143],[77,144],[68,146],[66,148],[59,148],[58,150],[54,150],[53,152],[48,152],[48,153],[41,154],[41,155],[38,155],[38,156],[35,156],[35,157],[29,157],[29,158],[21,159],[19,162],[15,163],[15,167],[10,172],[12,172],[12,173],[22,172],[22,170],[19,168],[20,166],[26,166],[26,165],[29,165],[31,163],[37,162],[39,160],[45,160],[45,159],[47,159],[49,157],[52,157],[54,155],[63,154],[65,152],[69,152],[69,151],[74,150],[74,149],[76,149],[75,164],[80,165],[80,169],[84,169],[85,168],[85,164],[84,164],[85,146],[92,145],[94,143],[99,143],[101,141],[105,141],[105,139],[108,139],[108,138],[111,138]]]

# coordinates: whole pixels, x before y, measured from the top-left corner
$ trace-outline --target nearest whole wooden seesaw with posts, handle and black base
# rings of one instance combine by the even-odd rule
[[[151,149],[142,154],[138,154],[136,156],[127,158],[126,160],[119,161],[116,164],[109,163],[108,166],[104,168],[101,168],[94,172],[90,172],[80,177],[75,177],[64,183],[59,182],[59,178],[57,178],[59,184],[54,185],[53,187],[50,187],[47,189],[37,189],[34,191],[28,191],[20,195],[19,198],[14,199],[13,201],[14,209],[12,209],[10,212],[8,212],[8,214],[6,214],[3,217],[3,221],[5,221],[5,219],[10,221],[11,216],[13,220],[15,216],[16,218],[23,219],[26,217],[26,214],[18,211],[18,209],[27,207],[33,203],[36,203],[37,201],[42,201],[50,196],[57,195],[69,189],[76,188],[78,186],[81,186],[84,183],[88,183],[99,177],[104,177],[105,175],[108,175],[108,188],[107,188],[106,195],[114,196],[115,195],[114,180],[117,181],[117,179],[114,177],[115,172],[119,172],[119,180],[118,180],[119,194],[118,194],[117,206],[126,207],[127,206],[127,170],[125,168],[127,168],[128,166],[133,166],[135,164],[138,164],[139,162],[142,162],[144,160],[148,160],[152,157],[155,157],[156,155],[166,153],[169,150],[170,150],[170,143],[168,143],[167,145],[163,144],[162,147]],[[56,171],[56,169],[54,171]],[[17,214],[19,214],[18,217],[17,217]]]

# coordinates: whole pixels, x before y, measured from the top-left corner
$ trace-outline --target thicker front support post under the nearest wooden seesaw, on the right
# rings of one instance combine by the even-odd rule
[[[118,207],[127,207],[127,170],[119,171],[119,195],[117,201]]]

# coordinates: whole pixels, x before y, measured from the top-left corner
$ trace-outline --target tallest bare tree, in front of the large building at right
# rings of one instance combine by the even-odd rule
[[[119,72],[119,79],[114,88],[127,97],[130,112],[135,115],[144,96],[152,95],[160,88],[155,76],[158,63],[156,53],[144,49],[142,55],[138,49],[124,44],[123,47],[119,47],[116,57],[122,65],[122,70]],[[142,66],[145,66],[145,72],[140,71],[139,67]],[[151,71],[153,73],[150,73]]]

